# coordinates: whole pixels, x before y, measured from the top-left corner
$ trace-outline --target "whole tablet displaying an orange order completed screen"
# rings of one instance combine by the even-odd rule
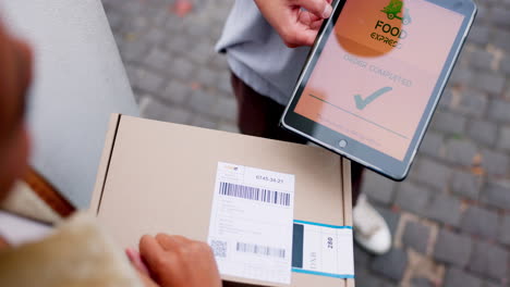
[[[404,179],[475,14],[472,0],[336,1],[281,126]]]

